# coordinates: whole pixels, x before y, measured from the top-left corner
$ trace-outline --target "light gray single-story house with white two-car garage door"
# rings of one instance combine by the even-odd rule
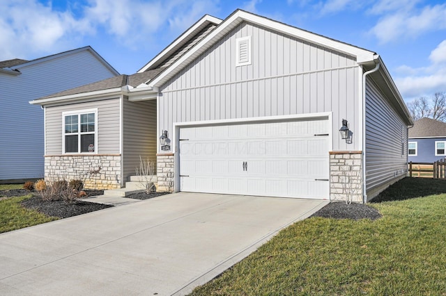
[[[243,10],[206,15],[137,74],[31,104],[46,176],[100,166],[119,188],[142,156],[161,190],[355,202],[406,176],[413,124],[376,53]]]

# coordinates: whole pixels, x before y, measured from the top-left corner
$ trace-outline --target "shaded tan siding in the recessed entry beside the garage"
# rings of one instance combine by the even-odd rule
[[[139,156],[155,162],[156,168],[156,100],[123,101],[123,181],[135,175]]]

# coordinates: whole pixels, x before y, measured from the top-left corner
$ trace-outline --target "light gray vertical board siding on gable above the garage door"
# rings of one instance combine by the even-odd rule
[[[236,38],[245,36],[252,63],[236,67]],[[358,75],[350,56],[244,22],[160,88],[159,128],[171,133],[174,122],[332,112],[332,133],[344,118],[353,131],[352,144],[333,137],[333,149],[360,149]]]

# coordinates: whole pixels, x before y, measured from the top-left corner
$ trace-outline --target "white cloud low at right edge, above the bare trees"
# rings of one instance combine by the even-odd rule
[[[399,91],[406,100],[446,92],[446,40],[431,51],[429,67],[413,68],[406,65],[397,69],[395,79]]]

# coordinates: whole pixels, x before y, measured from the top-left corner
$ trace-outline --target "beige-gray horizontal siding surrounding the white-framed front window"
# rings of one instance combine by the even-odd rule
[[[61,155],[62,151],[62,113],[67,111],[98,108],[98,154],[119,154],[120,104],[119,97],[102,101],[68,104],[46,108],[46,155]]]

